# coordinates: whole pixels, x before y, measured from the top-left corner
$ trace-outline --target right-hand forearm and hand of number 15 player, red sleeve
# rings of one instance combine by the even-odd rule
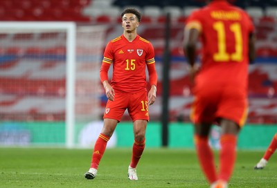
[[[148,92],[148,104],[152,105],[154,104],[157,98],[158,76],[157,76],[157,71],[156,71],[154,62],[147,64],[147,67],[148,67],[149,82],[151,85],[150,91]]]

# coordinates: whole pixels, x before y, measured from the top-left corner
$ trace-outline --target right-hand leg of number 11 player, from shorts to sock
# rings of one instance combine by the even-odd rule
[[[238,133],[247,118],[247,95],[237,86],[224,86],[217,105],[217,120],[222,128],[220,137],[220,169],[218,181],[227,182],[233,173]]]

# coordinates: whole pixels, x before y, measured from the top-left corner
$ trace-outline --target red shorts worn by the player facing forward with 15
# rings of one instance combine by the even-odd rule
[[[133,122],[136,120],[149,121],[147,91],[136,93],[115,91],[114,101],[108,100],[103,118],[120,122],[126,109]]]

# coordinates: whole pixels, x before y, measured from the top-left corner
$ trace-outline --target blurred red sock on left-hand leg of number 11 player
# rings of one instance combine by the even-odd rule
[[[208,182],[215,182],[217,180],[217,174],[215,171],[213,151],[208,145],[208,137],[200,137],[199,135],[195,135],[195,147],[204,175],[208,179]]]

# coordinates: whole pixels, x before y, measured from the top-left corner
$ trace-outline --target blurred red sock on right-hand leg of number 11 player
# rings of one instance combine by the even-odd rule
[[[222,135],[220,144],[220,172],[218,179],[228,182],[235,166],[237,136],[231,134]]]

